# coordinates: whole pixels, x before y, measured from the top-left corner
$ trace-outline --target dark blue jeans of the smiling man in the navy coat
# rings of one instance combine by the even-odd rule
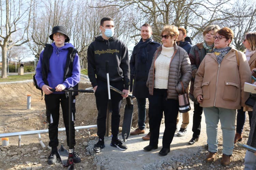
[[[145,129],[146,121],[146,98],[136,98],[138,104],[138,126],[140,130]]]

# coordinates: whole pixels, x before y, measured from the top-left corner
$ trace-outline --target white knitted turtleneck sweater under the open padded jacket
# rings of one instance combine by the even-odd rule
[[[155,62],[154,87],[159,89],[168,88],[169,69],[174,47],[164,47]]]

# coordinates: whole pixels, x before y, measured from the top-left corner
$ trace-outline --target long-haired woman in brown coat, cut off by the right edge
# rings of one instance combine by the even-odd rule
[[[246,60],[248,61],[250,68],[252,70],[252,75],[255,77],[256,73],[253,70],[256,70],[256,32],[254,33],[246,33],[244,40],[243,40],[244,47],[246,48],[245,55]],[[252,80],[252,83],[254,80]],[[245,122],[245,111],[248,112],[249,115],[249,124],[251,127],[251,119],[252,119],[252,108],[245,106],[241,107],[241,109],[237,110],[237,129],[236,129],[236,135],[234,138],[234,143],[237,143],[238,141],[241,141],[243,136],[243,126]]]

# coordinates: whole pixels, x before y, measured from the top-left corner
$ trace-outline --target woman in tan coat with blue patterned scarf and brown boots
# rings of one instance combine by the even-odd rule
[[[194,96],[203,107],[209,154],[213,162],[218,151],[218,122],[221,121],[223,154],[221,165],[230,164],[234,148],[236,109],[245,106],[249,97],[244,83],[251,82],[251,70],[246,56],[230,46],[233,31],[224,27],[214,36],[213,53],[202,60],[195,77]]]

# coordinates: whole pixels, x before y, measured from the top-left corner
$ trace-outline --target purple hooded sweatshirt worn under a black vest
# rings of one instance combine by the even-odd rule
[[[50,57],[49,61],[49,71],[47,75],[47,81],[49,83],[49,86],[52,88],[55,88],[58,84],[63,84],[66,89],[69,89],[70,87],[74,87],[77,83],[80,81],[80,62],[79,62],[79,56],[76,54],[73,61],[73,70],[72,70],[72,76],[64,79],[65,75],[65,66],[67,62],[68,57],[68,48],[74,46],[71,43],[65,43],[62,47],[56,47],[55,43],[51,44],[53,46],[53,53]],[[42,60],[43,60],[43,52],[40,54],[39,62],[36,68],[36,75],[35,79],[37,80],[37,84],[39,87],[42,88],[42,86],[45,84],[43,81],[42,76]],[[65,92],[54,92],[54,94],[60,94]]]

